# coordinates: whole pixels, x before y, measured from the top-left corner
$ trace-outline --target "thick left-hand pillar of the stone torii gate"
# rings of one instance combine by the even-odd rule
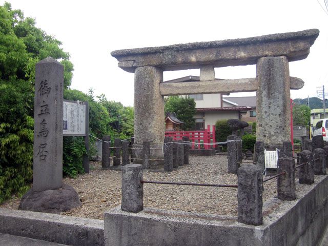
[[[142,146],[144,141],[152,141],[151,148],[157,149],[164,141],[164,100],[159,94],[159,83],[163,72],[155,67],[139,67],[134,73],[134,147]],[[136,146],[135,146],[136,145]],[[141,147],[142,148],[142,147]],[[142,152],[136,151],[136,158]],[[162,150],[151,152],[153,159],[163,159]],[[163,161],[152,161],[162,165]],[[140,162],[141,163],[141,162]]]

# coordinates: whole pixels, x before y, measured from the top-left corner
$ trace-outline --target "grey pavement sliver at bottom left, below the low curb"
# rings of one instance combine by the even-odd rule
[[[1,246],[67,246],[55,242],[42,241],[27,237],[13,236],[0,233]]]

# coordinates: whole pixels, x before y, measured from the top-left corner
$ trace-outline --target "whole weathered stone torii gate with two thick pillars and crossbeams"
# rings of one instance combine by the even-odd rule
[[[152,141],[151,156],[162,158],[158,148],[165,134],[163,96],[250,91],[257,94],[257,141],[263,141],[266,148],[282,146],[291,139],[290,89],[304,85],[301,79],[290,77],[289,61],[306,58],[318,35],[319,30],[310,29],[111,52],[118,67],[134,73],[135,147]],[[216,67],[253,64],[256,78],[215,79]],[[198,68],[200,81],[163,83],[163,71]],[[141,158],[140,151],[136,155]]]

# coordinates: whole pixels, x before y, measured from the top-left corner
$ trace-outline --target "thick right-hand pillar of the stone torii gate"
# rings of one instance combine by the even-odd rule
[[[291,139],[290,77],[286,56],[257,61],[256,140],[279,145]]]

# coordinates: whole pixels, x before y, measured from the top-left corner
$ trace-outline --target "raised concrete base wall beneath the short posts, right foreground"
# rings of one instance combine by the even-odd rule
[[[319,245],[328,223],[327,186],[327,176],[316,176],[296,200],[268,200],[261,226],[232,216],[117,207],[105,213],[105,245]]]

